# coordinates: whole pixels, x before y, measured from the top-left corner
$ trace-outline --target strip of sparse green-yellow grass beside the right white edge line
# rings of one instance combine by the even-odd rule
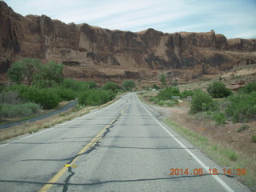
[[[246,169],[246,174],[238,176],[238,180],[243,182],[246,186],[256,187],[256,161],[255,156],[246,156],[241,152],[230,149],[228,146],[222,146],[221,143],[216,143],[208,138],[202,136],[186,128],[185,126],[178,125],[177,122],[173,122],[170,119],[166,119],[166,124],[172,129],[182,134],[184,138],[189,140],[194,146],[202,150],[211,159],[223,167],[229,167],[231,169]],[[254,135],[256,142],[256,135]]]

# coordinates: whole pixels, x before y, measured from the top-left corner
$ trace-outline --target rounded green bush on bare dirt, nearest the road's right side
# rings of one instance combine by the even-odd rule
[[[196,114],[198,112],[214,110],[214,100],[209,94],[202,92],[202,90],[197,90],[192,96],[192,101],[190,103],[190,113]]]

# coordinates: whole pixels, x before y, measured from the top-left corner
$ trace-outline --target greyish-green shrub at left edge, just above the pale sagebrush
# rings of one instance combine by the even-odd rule
[[[22,103],[22,99],[18,95],[18,90],[3,90],[0,92],[0,102],[19,104]]]

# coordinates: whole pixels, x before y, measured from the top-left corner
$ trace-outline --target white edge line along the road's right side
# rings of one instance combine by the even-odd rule
[[[136,98],[138,99],[137,94],[135,94],[135,95],[136,95]],[[162,129],[165,130],[167,134],[169,134],[172,138],[174,138],[174,140],[175,140],[176,142],[178,142],[178,144],[179,144],[180,146],[182,146],[182,148],[184,148],[184,150],[186,150],[186,152],[189,153],[189,154],[194,158],[194,160],[196,160],[196,161],[199,163],[199,165],[202,166],[202,167],[209,173],[209,167],[206,166],[206,165],[205,165],[195,154],[193,154],[188,148],[186,148],[186,146],[184,146],[184,145],[182,144],[182,142],[180,142],[180,141],[178,140],[178,138],[175,138],[174,135],[171,134],[169,130],[166,130],[166,127],[163,126],[162,123],[158,121],[158,119],[154,118],[154,116],[146,109],[146,107],[142,104],[142,102],[141,102],[139,99],[138,99],[138,102],[142,105],[142,107],[144,108],[144,110],[146,110],[146,112],[147,112],[148,114],[150,114],[150,116],[154,119],[154,121],[155,121],[155,122],[158,122],[158,125],[161,126]],[[228,185],[226,184],[226,182],[224,182],[221,178],[219,178],[218,175],[211,174],[211,176],[213,176],[213,177],[215,178],[215,180],[216,180],[226,191],[234,192],[234,190],[232,190],[232,189],[230,188],[230,186],[228,186]]]

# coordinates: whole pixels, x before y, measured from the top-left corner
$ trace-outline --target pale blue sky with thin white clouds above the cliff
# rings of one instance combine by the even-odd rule
[[[19,14],[46,14],[133,32],[215,30],[226,38],[256,38],[256,0],[5,0]]]

